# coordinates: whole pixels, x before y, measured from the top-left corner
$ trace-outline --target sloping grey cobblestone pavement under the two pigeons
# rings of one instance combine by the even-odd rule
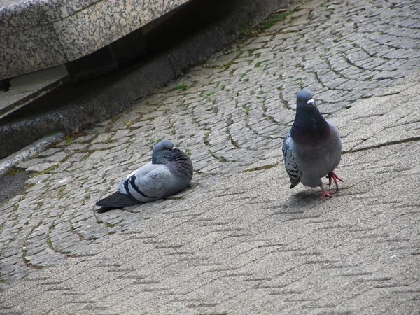
[[[420,5],[289,13],[20,165],[36,173],[0,207],[0,313],[419,313]],[[302,87],[342,134],[324,202],[281,162]],[[94,212],[164,138],[191,188]]]

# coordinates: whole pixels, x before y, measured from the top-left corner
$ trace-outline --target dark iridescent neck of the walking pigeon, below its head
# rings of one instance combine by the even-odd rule
[[[330,137],[330,126],[318,110],[311,113],[297,111],[290,136],[298,143],[319,144]]]

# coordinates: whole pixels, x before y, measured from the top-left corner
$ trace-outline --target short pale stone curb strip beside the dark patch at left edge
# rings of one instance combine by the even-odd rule
[[[9,169],[15,165],[18,165],[20,162],[38,155],[38,153],[43,151],[47,146],[53,144],[54,142],[60,141],[63,138],[64,134],[62,133],[43,137],[43,139],[40,139],[33,144],[29,144],[29,146],[22,148],[22,150],[9,155],[3,160],[0,160],[0,175],[6,173]]]

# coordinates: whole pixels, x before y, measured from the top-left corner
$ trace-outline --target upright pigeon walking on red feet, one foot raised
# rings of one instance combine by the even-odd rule
[[[318,111],[311,92],[297,94],[295,121],[283,142],[283,157],[290,188],[302,182],[304,186],[322,189],[320,200],[332,197],[335,191],[325,190],[321,178],[342,181],[333,171],[341,158],[341,139],[338,130]]]

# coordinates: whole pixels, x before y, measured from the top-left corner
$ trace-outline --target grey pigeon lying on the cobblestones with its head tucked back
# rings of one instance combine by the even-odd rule
[[[193,163],[186,153],[163,140],[153,147],[152,162],[121,183],[116,193],[97,202],[99,212],[151,202],[186,189],[193,178]]]

